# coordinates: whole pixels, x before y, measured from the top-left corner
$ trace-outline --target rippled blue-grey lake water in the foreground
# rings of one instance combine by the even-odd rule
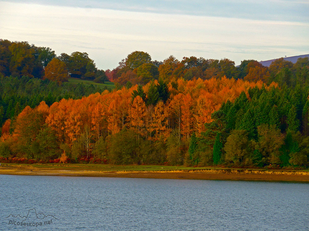
[[[0,230],[309,230],[308,199],[298,183],[0,175]]]

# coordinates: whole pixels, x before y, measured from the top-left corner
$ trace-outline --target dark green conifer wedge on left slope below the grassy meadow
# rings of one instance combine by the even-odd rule
[[[107,89],[107,88],[106,88]],[[41,101],[52,105],[61,99],[80,99],[105,89],[96,85],[57,83],[26,76],[0,77],[0,124],[16,117],[26,106],[38,106]]]

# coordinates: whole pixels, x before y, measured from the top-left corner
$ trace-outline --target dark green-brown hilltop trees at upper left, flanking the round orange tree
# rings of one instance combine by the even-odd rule
[[[44,69],[54,59],[62,61],[68,76],[80,79],[106,81],[105,72],[98,70],[86,52],[62,53],[56,56],[49,47],[36,47],[28,42],[11,42],[0,39],[0,75],[30,78],[44,78]],[[53,64],[55,65],[55,64]]]

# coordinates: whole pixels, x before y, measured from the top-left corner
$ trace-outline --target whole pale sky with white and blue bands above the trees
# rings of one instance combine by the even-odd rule
[[[87,52],[113,69],[133,51],[258,61],[309,54],[309,0],[0,0],[0,39]]]

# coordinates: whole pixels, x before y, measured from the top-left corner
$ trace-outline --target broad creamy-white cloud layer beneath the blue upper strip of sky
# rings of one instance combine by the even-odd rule
[[[0,2],[2,39],[51,47],[58,55],[87,52],[102,69],[135,50],[157,60],[195,55],[235,63],[307,54],[308,29],[307,22]]]

